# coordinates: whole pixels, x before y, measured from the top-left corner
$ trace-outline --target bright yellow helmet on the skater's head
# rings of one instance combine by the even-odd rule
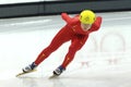
[[[80,22],[83,24],[93,24],[95,22],[96,15],[91,10],[84,10],[80,14]]]

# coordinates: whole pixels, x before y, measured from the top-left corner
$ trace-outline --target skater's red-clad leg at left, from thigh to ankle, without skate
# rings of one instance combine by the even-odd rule
[[[46,58],[48,58],[53,51],[56,51],[62,44],[70,40],[70,35],[67,36],[68,30],[63,27],[52,39],[50,45],[44,49],[37,59],[35,60],[35,64],[39,65]]]

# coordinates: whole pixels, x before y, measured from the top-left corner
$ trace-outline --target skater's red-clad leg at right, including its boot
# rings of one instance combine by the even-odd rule
[[[69,51],[68,51],[68,53],[67,53],[62,64],[53,71],[53,74],[59,76],[66,70],[66,67],[73,60],[76,51],[79,51],[83,47],[83,45],[85,44],[86,39],[87,39],[87,37],[83,36],[82,38],[75,37],[72,40],[71,46],[69,48]]]

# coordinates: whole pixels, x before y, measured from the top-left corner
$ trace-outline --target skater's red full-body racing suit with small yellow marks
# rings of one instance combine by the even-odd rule
[[[35,64],[40,64],[46,58],[48,58],[48,55],[50,55],[50,53],[56,51],[62,44],[71,41],[69,51],[66,54],[64,60],[61,64],[64,69],[69,65],[69,63],[73,60],[76,51],[80,50],[87,40],[88,35],[92,32],[98,30],[102,24],[102,17],[97,16],[94,24],[92,24],[92,27],[85,32],[81,28],[81,22],[79,20],[79,16],[80,15],[70,17],[67,13],[61,14],[61,17],[67,22],[66,26],[63,26],[58,32],[58,34],[51,40],[50,45],[39,53],[39,55],[35,60]]]

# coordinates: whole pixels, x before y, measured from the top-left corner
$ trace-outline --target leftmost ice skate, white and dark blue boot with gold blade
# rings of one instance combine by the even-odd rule
[[[21,76],[21,75],[24,75],[24,74],[27,74],[27,73],[33,73],[33,72],[35,72],[36,70],[36,64],[33,62],[32,64],[29,64],[29,65],[27,65],[27,66],[25,66],[24,69],[22,69],[22,73],[19,73],[17,75],[16,75],[16,77],[17,76]]]

